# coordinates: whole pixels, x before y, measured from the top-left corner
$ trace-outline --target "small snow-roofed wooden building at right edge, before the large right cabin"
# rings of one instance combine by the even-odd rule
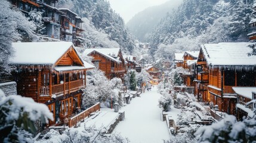
[[[256,87],[233,87],[237,95],[236,117],[238,120],[243,116],[253,118],[256,110]]]

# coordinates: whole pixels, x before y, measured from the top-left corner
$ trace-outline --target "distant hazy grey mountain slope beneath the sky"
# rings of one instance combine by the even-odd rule
[[[171,12],[173,8],[177,8],[182,1],[172,0],[162,5],[146,8],[129,20],[127,27],[141,42],[144,42],[161,18],[165,17],[166,13]]]

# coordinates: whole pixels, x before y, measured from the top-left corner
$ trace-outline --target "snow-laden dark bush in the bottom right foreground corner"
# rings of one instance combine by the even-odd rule
[[[220,122],[199,128],[195,135],[201,135],[199,142],[255,142],[256,119],[238,122],[235,116],[225,114]]]

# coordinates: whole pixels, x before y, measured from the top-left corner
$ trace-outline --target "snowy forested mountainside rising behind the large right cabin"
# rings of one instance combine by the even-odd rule
[[[155,58],[198,50],[200,43],[248,42],[253,0],[184,0],[166,15],[147,41]]]

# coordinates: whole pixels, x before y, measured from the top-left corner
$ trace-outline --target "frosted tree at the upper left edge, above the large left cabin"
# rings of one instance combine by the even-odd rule
[[[35,24],[29,22],[20,11],[11,9],[10,2],[5,0],[0,2],[0,74],[2,74],[11,71],[8,61],[15,52],[11,43],[21,40],[21,36],[26,39],[35,36],[33,32]]]

